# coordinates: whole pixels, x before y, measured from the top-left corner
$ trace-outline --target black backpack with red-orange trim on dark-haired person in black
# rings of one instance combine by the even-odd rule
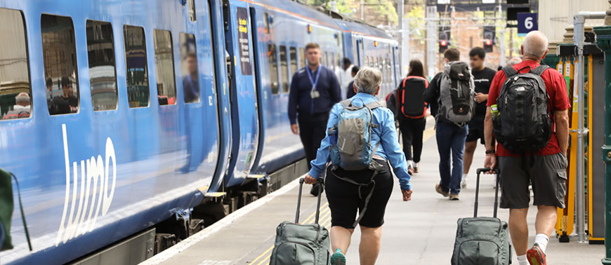
[[[424,92],[426,80],[419,77],[403,79],[397,88],[397,107],[402,118],[422,118],[426,114]]]

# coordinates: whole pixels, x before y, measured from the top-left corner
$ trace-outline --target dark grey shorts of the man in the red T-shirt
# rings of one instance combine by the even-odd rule
[[[534,157],[499,156],[501,208],[528,208],[528,184],[532,184],[533,205],[565,208],[567,165],[567,158],[562,153]]]

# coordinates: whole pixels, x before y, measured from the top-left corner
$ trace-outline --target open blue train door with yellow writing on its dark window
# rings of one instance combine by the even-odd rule
[[[260,135],[249,6],[242,1],[225,2],[223,13],[233,132],[225,186],[233,186],[248,177]]]

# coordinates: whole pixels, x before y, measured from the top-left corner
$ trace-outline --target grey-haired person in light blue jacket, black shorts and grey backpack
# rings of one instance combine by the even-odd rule
[[[395,118],[389,109],[381,107],[375,97],[380,91],[381,81],[382,74],[378,69],[360,69],[355,76],[357,95],[331,109],[327,136],[320,143],[316,159],[306,175],[306,183],[316,183],[317,178],[322,177],[327,161],[331,160],[324,190],[331,209],[331,247],[336,250],[331,256],[332,265],[346,264],[344,255],[357,224],[361,229],[360,264],[376,263],[384,212],[393,191],[390,165],[399,179],[403,201],[412,198],[411,176],[407,173],[407,161],[397,139]],[[366,124],[364,130],[357,123]],[[364,143],[361,142],[363,138]],[[338,141],[347,144],[339,147]],[[355,154],[355,148],[360,150],[367,145],[372,149]],[[359,215],[355,220],[357,211]]]

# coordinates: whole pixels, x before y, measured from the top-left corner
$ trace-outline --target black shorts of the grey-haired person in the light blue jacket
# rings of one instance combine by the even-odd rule
[[[388,163],[386,161],[380,161],[380,163],[383,165],[383,168],[374,177],[376,186],[372,198],[369,199],[367,210],[359,222],[360,226],[379,227],[384,224],[386,204],[390,198],[390,193],[393,192],[395,182],[393,182],[393,175],[390,173]],[[353,224],[357,218],[357,211],[360,212],[363,209],[365,198],[367,198],[367,194],[371,191],[372,186],[358,186],[345,182],[335,177],[334,174],[341,177],[350,177],[358,183],[367,184],[372,177],[373,171],[347,171],[337,168],[335,172],[331,172],[331,168],[331,166],[327,168],[327,177],[324,185],[327,201],[329,201],[329,209],[331,210],[331,226],[354,229]]]

